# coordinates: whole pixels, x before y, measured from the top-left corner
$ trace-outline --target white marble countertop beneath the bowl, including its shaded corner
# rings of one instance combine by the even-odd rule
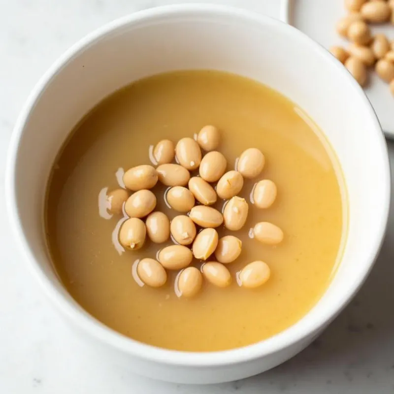
[[[171,2],[0,0],[1,206],[11,130],[40,75],[68,46],[103,23]],[[214,2],[272,16],[279,10],[278,0]],[[394,143],[389,148],[393,167]],[[1,394],[394,393],[394,213],[379,260],[361,292],[309,348],[262,375],[200,387],[150,381],[84,353],[26,271],[7,229],[5,210],[0,211],[0,235]]]

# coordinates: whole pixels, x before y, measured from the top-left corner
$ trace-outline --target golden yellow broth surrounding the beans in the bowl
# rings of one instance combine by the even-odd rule
[[[228,170],[243,150],[265,155],[263,173],[246,181],[241,197],[250,202],[253,184],[271,179],[278,197],[268,209],[250,204],[245,227],[231,233],[242,253],[226,266],[233,277],[226,289],[206,282],[193,299],[174,293],[177,272],[164,287],[140,287],[132,264],[155,258],[167,244],[119,255],[112,232],[119,217],[99,215],[100,190],[118,188],[118,168],[151,164],[149,146],[176,142],[212,124],[222,132],[220,150]],[[315,128],[315,130],[313,130]],[[46,221],[49,249],[69,293],[107,326],[138,341],[169,349],[216,351],[268,338],[296,323],[328,287],[344,236],[340,173],[316,126],[294,103],[257,82],[214,71],[173,72],[146,78],[101,102],[72,132],[48,186]],[[338,178],[339,177],[339,178]],[[164,203],[157,185],[156,210],[177,212]],[[223,201],[216,207],[221,209]],[[259,221],[285,233],[278,246],[248,235]],[[236,272],[263,260],[271,268],[261,288],[240,288]],[[194,262],[199,266],[200,263]]]

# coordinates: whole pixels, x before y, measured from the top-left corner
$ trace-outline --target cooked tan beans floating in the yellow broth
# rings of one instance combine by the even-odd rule
[[[176,146],[170,140],[162,140],[153,150],[158,166],[130,168],[123,176],[127,190],[117,189],[108,194],[109,211],[128,217],[119,230],[119,242],[124,248],[141,249],[146,236],[158,244],[170,238],[173,241],[158,252],[157,260],[144,258],[137,263],[136,273],[144,284],[163,286],[167,280],[166,270],[179,270],[175,283],[179,296],[196,295],[203,277],[218,287],[230,285],[231,275],[225,264],[239,257],[242,242],[234,235],[219,239],[215,228],[224,225],[230,231],[238,231],[245,225],[249,205],[237,195],[244,178],[260,175],[265,158],[260,150],[247,149],[240,155],[236,170],[226,172],[227,160],[215,150],[219,142],[220,133],[213,126],[203,127],[196,139],[182,138]],[[201,149],[206,152],[204,156]],[[171,163],[174,159],[178,164]],[[191,177],[190,171],[197,170],[199,176]],[[181,213],[171,222],[163,212],[154,211],[157,199],[150,189],[157,182],[168,187],[166,202]],[[212,183],[216,183],[216,188]],[[133,192],[131,195],[129,190]],[[258,208],[268,208],[276,194],[275,183],[264,179],[256,183],[252,202]],[[218,198],[225,200],[223,213],[210,206]],[[282,241],[283,232],[271,223],[260,222],[253,228],[253,237],[275,245]],[[216,261],[209,261],[213,260],[211,256],[215,256]],[[201,270],[190,266],[193,257],[205,262]],[[270,269],[266,263],[255,261],[237,275],[240,286],[255,288],[268,280]]]

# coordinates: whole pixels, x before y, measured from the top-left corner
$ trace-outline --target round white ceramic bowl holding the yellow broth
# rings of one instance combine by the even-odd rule
[[[342,263],[325,295],[294,326],[257,344],[224,352],[164,350],[103,326],[61,285],[48,258],[43,231],[50,168],[81,117],[136,79],[190,68],[241,74],[296,102],[325,132],[348,190],[348,238]],[[386,143],[371,105],[326,50],[265,16],[211,5],[173,5],[138,12],[100,28],[50,68],[15,126],[6,197],[12,229],[35,277],[99,357],[152,378],[202,384],[244,378],[288,360],[347,304],[371,269],[384,237],[389,172]]]

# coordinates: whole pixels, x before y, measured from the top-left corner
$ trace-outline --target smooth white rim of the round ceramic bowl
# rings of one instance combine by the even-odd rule
[[[359,95],[361,94],[364,110],[368,112],[368,116],[372,118],[373,123],[375,124],[374,130],[371,130],[370,132],[374,133],[374,137],[379,143],[383,162],[385,162],[385,164],[383,164],[381,168],[382,172],[379,174],[385,189],[385,193],[381,196],[381,217],[379,221],[379,228],[373,232],[372,236],[374,240],[371,244],[371,248],[368,251],[368,254],[365,257],[365,263],[362,264],[363,269],[358,272],[358,277],[354,281],[353,286],[349,286],[346,296],[344,296],[337,303],[331,303],[329,307],[324,311],[321,318],[319,320],[310,322],[306,330],[297,330],[296,327],[293,325],[261,342],[241,348],[216,352],[183,352],[144,344],[129,337],[126,337],[111,328],[108,328],[104,324],[97,321],[94,317],[89,315],[87,312],[82,311],[82,308],[77,308],[75,306],[75,303],[73,303],[71,299],[67,299],[66,296],[62,295],[56,289],[51,279],[45,274],[44,270],[37,262],[37,259],[35,258],[33,251],[30,248],[27,238],[25,236],[22,226],[22,220],[19,217],[16,204],[15,176],[20,139],[23,135],[30,113],[34,109],[36,100],[39,99],[46,86],[51,83],[51,80],[56,75],[56,73],[64,66],[66,66],[67,62],[69,62],[73,57],[78,55],[86,47],[94,44],[97,40],[104,37],[108,33],[111,33],[112,31],[116,31],[118,29],[121,29],[122,27],[132,25],[139,21],[151,20],[156,17],[174,16],[184,13],[189,13],[190,15],[192,15],[194,12],[198,12],[200,14],[206,13],[208,15],[218,14],[222,16],[236,17],[244,19],[246,21],[253,21],[263,25],[274,26],[275,29],[288,31],[288,34],[291,34],[294,37],[295,41],[308,41],[309,45],[311,47],[314,47],[315,52],[319,56],[324,57],[325,60],[331,63],[332,66],[337,67],[337,72],[342,74],[346,73],[349,80],[351,80],[349,82],[353,84],[353,88],[358,91],[357,93]],[[340,65],[340,63],[331,54],[329,54],[329,52],[325,48],[323,48],[317,42],[313,41],[306,34],[279,20],[255,13],[253,11],[247,11],[231,6],[199,3],[173,4],[138,11],[116,19],[112,22],[109,22],[102,27],[99,27],[97,30],[86,35],[77,43],[72,45],[60,58],[58,58],[58,60],[55,61],[55,63],[40,78],[38,83],[33,88],[33,91],[27,99],[23,109],[21,110],[14,130],[12,132],[11,141],[8,148],[8,157],[5,173],[6,207],[14,237],[17,239],[18,245],[22,250],[24,260],[29,262],[28,265],[30,267],[30,270],[40,282],[47,296],[49,296],[49,298],[56,304],[56,307],[62,310],[62,312],[66,316],[68,316],[70,321],[76,326],[78,326],[82,331],[95,337],[97,340],[105,343],[106,345],[109,345],[110,347],[121,351],[122,353],[126,353],[136,358],[144,359],[147,361],[155,361],[167,365],[182,365],[191,367],[224,366],[233,363],[240,363],[263,358],[291,345],[295,345],[302,339],[305,339],[308,336],[312,336],[312,334],[324,328],[356,294],[356,292],[359,290],[362,283],[366,279],[370,269],[372,268],[377,258],[377,255],[384,240],[384,234],[388,221],[390,206],[390,188],[390,164],[384,134],[381,130],[380,124],[370,102],[363,93],[361,87],[351,77],[345,67]],[[300,320],[302,319],[303,318],[301,318]]]

